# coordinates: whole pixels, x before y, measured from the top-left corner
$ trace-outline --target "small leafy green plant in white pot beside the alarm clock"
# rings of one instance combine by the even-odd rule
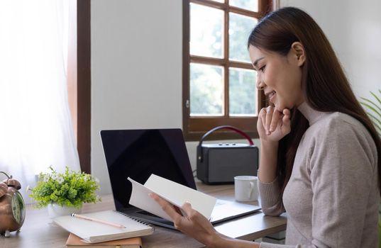
[[[101,198],[95,191],[99,181],[90,174],[73,171],[66,167],[64,173],[58,173],[49,167],[50,172],[39,175],[39,181],[31,191],[31,198],[37,201],[36,208],[48,206],[50,218],[70,213],[78,213],[83,203],[96,203]]]

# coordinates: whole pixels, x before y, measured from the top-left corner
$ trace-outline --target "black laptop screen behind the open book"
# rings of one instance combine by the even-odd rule
[[[131,207],[128,176],[144,184],[156,174],[196,189],[182,130],[101,130],[101,141],[116,210]]]

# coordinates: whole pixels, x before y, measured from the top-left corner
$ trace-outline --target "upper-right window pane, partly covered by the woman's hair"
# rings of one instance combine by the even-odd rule
[[[229,59],[250,62],[248,37],[258,23],[255,18],[229,13]]]

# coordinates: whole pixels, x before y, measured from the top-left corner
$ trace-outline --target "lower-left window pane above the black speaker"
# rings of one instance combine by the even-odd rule
[[[190,64],[190,115],[223,115],[223,67]]]

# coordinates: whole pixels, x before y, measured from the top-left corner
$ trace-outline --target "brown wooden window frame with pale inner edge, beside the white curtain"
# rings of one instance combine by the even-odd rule
[[[90,0],[70,0],[67,92],[81,170],[91,167],[91,8]]]

